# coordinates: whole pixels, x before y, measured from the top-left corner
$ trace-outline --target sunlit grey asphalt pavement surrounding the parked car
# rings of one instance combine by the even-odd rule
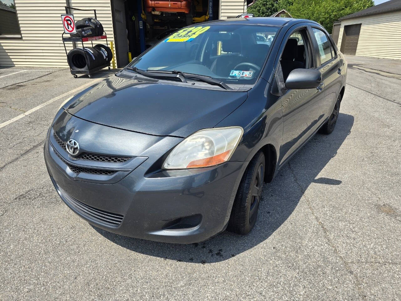
[[[252,232],[190,245],[95,228],[49,179],[57,109],[112,73],[0,68],[0,300],[401,300],[401,61],[347,59],[334,132],[265,185]]]

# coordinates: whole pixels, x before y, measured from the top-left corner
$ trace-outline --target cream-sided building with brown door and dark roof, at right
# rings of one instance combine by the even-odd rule
[[[401,1],[390,0],[334,22],[332,38],[347,55],[401,59]]]

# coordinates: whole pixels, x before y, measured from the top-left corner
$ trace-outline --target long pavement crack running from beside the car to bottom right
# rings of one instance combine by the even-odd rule
[[[334,253],[338,256],[338,258],[340,258],[341,262],[344,264],[345,270],[347,271],[347,273],[350,274],[352,277],[354,277],[355,284],[356,284],[355,287],[356,287],[356,290],[358,291],[358,295],[359,295],[360,297],[365,298],[365,297],[366,297],[366,294],[364,294],[363,291],[362,291],[362,281],[360,281],[358,275],[356,275],[356,274],[352,271],[352,269],[351,269],[351,267],[349,266],[348,262],[346,262],[346,260],[341,256],[340,252],[338,251],[338,248],[336,247],[336,245],[334,244],[334,242],[332,242],[332,240],[331,240],[331,238],[330,238],[330,236],[329,236],[329,234],[328,234],[328,230],[327,230],[326,226],[324,226],[323,222],[320,221],[319,218],[316,216],[316,214],[315,214],[315,212],[314,212],[314,209],[312,208],[312,205],[311,205],[309,199],[305,196],[305,191],[306,191],[306,189],[304,189],[304,188],[302,187],[302,185],[299,183],[298,178],[296,177],[296,175],[295,175],[295,173],[294,173],[294,169],[292,168],[290,162],[288,163],[288,167],[290,168],[292,177],[294,178],[295,183],[296,183],[297,186],[299,187],[299,189],[300,189],[300,191],[301,191],[301,193],[302,193],[302,196],[304,197],[304,199],[305,199],[305,201],[306,201],[306,204],[308,205],[308,208],[309,208],[310,212],[312,213],[314,219],[316,220],[316,222],[318,223],[318,225],[320,226],[320,228],[322,228],[323,234],[324,234],[324,238],[326,238],[326,240],[328,241],[328,244],[329,244],[329,245],[331,246],[331,248],[334,250]]]

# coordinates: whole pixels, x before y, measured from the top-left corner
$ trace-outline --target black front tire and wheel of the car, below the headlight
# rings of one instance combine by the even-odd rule
[[[248,234],[257,220],[265,173],[265,155],[257,153],[249,163],[235,195],[227,230]]]

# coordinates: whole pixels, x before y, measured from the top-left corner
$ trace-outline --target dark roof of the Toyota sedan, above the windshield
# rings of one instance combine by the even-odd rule
[[[215,24],[241,24],[241,25],[270,25],[270,26],[284,26],[287,23],[297,24],[302,22],[316,23],[315,21],[305,19],[294,19],[294,18],[277,18],[277,17],[252,17],[252,18],[229,18],[223,20],[213,20],[209,22],[203,22],[203,24],[215,25]],[[193,26],[193,25],[192,25]]]

